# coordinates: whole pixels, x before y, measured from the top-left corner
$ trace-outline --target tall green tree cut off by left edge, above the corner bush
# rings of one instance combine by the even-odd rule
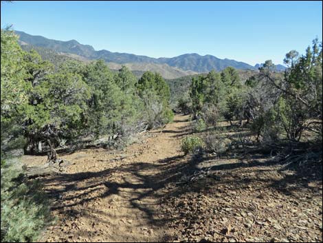
[[[23,107],[27,105],[27,76],[23,50],[17,36],[9,30],[1,30],[1,158],[10,149],[8,143],[22,133]]]

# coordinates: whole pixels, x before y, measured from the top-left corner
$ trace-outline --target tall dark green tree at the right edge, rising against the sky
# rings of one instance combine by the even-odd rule
[[[283,135],[294,141],[299,141],[306,129],[322,134],[322,43],[315,39],[305,55],[299,56],[293,50],[286,54],[284,61],[289,68],[283,77],[274,72],[271,61],[260,68],[260,78],[267,83],[269,94],[276,93],[271,105],[274,119],[270,120],[275,121],[271,130],[278,133],[284,130]],[[268,120],[265,114],[258,117]],[[311,127],[311,124],[318,126]]]

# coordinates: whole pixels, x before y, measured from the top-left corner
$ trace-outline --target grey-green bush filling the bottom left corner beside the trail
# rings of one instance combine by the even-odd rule
[[[41,184],[22,172],[19,161],[1,161],[1,242],[34,242],[52,221]]]

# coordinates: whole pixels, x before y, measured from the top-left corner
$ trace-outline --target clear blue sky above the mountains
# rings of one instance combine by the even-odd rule
[[[152,57],[211,54],[282,63],[322,41],[321,1],[14,1],[1,28]]]

